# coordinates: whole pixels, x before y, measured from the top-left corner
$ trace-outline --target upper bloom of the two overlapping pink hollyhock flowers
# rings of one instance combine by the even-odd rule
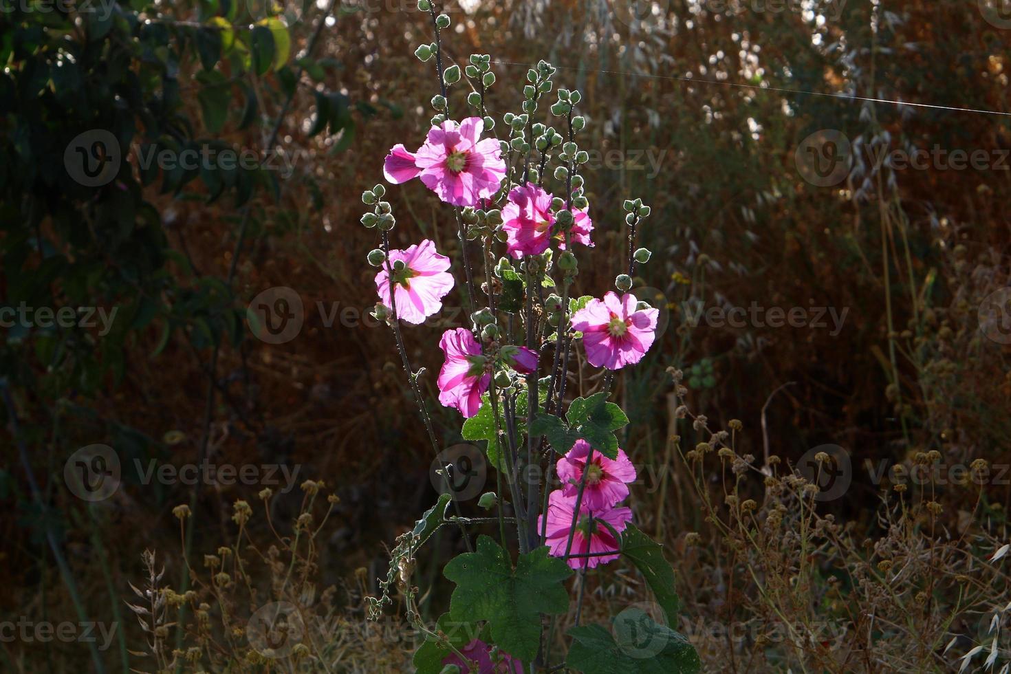
[[[568,454],[558,460],[558,478],[562,480],[562,493],[575,496],[582,483],[582,472],[586,466],[589,444],[577,440]],[[600,452],[586,470],[586,487],[582,490],[582,502],[590,510],[611,507],[629,495],[629,483],[635,481],[635,466],[621,449],[617,459],[609,459]]]

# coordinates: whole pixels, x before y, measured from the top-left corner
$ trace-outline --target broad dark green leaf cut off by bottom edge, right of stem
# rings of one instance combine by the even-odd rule
[[[626,609],[616,620],[616,639],[600,624],[568,631],[572,638],[566,666],[583,674],[695,674],[702,669],[695,647],[657,624],[641,609]]]

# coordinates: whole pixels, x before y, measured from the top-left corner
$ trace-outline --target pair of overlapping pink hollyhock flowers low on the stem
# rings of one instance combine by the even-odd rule
[[[618,559],[615,533],[624,532],[632,520],[631,509],[617,507],[636,476],[628,456],[619,449],[618,457],[609,459],[577,440],[556,469],[563,486],[548,496],[548,511],[537,522],[551,555],[566,558],[573,569],[592,569]]]

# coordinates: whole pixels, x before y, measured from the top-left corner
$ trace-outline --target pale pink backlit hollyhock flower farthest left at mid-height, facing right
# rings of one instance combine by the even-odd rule
[[[397,263],[403,263],[402,269],[397,269]],[[442,298],[453,289],[453,275],[446,271],[449,265],[449,258],[436,253],[436,245],[428,238],[405,251],[389,252],[398,318],[418,325],[442,309]],[[376,274],[376,290],[382,303],[392,309],[386,265]]]

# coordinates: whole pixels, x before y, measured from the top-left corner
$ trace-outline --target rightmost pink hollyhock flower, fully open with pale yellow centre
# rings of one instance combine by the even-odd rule
[[[572,329],[582,332],[586,360],[593,367],[620,370],[642,360],[656,336],[659,309],[636,310],[632,293],[613,292],[591,299],[572,315]]]

